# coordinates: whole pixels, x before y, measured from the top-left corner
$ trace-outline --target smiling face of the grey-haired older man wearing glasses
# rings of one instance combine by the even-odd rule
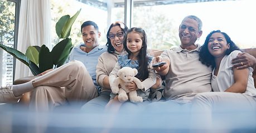
[[[178,32],[182,48],[195,45],[197,38],[202,35],[202,31],[199,32],[198,23],[192,18],[184,19],[178,29]]]

